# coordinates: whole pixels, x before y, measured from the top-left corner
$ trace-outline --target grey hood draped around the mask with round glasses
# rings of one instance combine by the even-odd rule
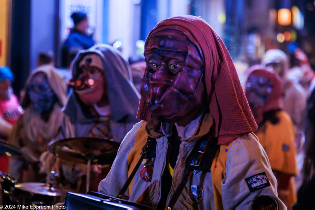
[[[118,50],[107,44],[97,44],[87,50],[79,51],[72,61],[72,78],[78,77],[80,61],[85,55],[91,53],[98,54],[102,58],[108,99],[112,109],[112,121],[138,122],[136,115],[140,95],[132,82],[129,63],[123,59]],[[64,107],[64,113],[75,122],[94,122],[95,117],[91,113],[87,113],[87,109],[89,108],[78,98],[77,93],[71,90]]]

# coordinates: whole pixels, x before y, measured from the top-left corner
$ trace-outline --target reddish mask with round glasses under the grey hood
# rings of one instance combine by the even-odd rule
[[[78,67],[79,75],[72,79],[69,85],[84,104],[93,106],[103,98],[104,94],[107,96],[101,57],[98,54],[85,55]]]

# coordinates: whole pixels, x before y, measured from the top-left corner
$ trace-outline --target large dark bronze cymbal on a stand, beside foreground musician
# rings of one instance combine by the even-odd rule
[[[119,143],[107,139],[75,137],[49,143],[49,152],[62,160],[91,164],[112,164],[117,155]]]

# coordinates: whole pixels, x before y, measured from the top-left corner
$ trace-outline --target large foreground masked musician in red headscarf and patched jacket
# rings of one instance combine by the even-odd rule
[[[144,55],[142,122],[98,191],[157,209],[284,207],[232,59],[211,26],[194,16],[163,20]]]

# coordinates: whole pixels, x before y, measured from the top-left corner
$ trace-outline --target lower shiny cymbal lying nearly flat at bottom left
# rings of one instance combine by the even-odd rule
[[[73,191],[61,187],[50,187],[49,185],[40,182],[25,182],[15,184],[14,186],[19,190],[45,196],[66,196],[68,192]]]

